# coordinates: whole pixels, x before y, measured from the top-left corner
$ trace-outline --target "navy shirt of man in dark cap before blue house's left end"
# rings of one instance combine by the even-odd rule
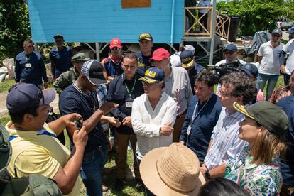
[[[55,77],[60,76],[63,72],[70,70],[70,67],[72,67],[70,64],[72,49],[68,46],[64,46],[61,51],[58,51],[57,48],[52,48],[49,56],[50,60],[55,63]]]

